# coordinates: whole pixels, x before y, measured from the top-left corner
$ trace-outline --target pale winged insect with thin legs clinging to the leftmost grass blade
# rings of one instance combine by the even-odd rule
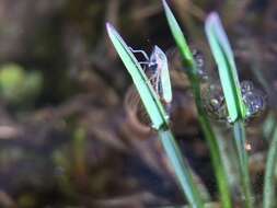
[[[143,50],[135,50],[129,47],[130,50],[135,53],[140,53],[146,58],[146,61],[140,61],[141,66],[145,66],[147,74],[149,74],[149,80],[152,83],[155,93],[160,99],[164,100],[165,103],[171,103],[172,101],[172,90],[170,81],[170,72],[166,55],[163,50],[154,46],[150,58]]]

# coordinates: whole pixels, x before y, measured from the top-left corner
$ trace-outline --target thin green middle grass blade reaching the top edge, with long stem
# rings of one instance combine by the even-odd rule
[[[163,7],[164,7],[165,16],[166,16],[169,26],[171,28],[172,35],[181,53],[183,65],[187,69],[186,72],[192,84],[192,90],[195,96],[197,112],[199,114],[198,119],[199,119],[201,129],[204,131],[205,139],[207,140],[207,145],[210,150],[211,162],[215,170],[217,184],[219,187],[222,206],[224,208],[231,208],[232,204],[231,204],[230,189],[229,189],[228,180],[227,180],[228,178],[227,173],[223,167],[222,157],[220,155],[219,145],[216,140],[215,132],[211,128],[207,114],[205,113],[205,109],[203,107],[204,105],[201,103],[201,97],[200,97],[200,85],[199,85],[200,83],[199,83],[199,78],[197,74],[198,72],[197,72],[197,68],[196,68],[192,51],[189,50],[189,47],[187,46],[186,39],[181,31],[181,27],[178,26],[177,21],[175,20],[165,0],[163,0]]]

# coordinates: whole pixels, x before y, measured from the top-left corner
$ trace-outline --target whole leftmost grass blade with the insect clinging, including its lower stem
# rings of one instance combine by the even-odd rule
[[[111,24],[107,23],[106,27],[115,49],[132,78],[148,115],[159,132],[162,145],[168,153],[170,162],[173,165],[177,180],[189,205],[193,208],[203,208],[200,194],[193,181],[189,165],[186,160],[183,159],[181,150],[169,129],[168,116],[161,102],[159,101],[158,95],[138,63],[136,57],[129,50],[129,47],[123,41],[120,35]]]

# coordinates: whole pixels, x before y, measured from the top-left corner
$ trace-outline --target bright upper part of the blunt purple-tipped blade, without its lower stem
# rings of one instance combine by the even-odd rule
[[[217,13],[213,12],[207,18],[205,32],[218,66],[230,122],[234,123],[238,119],[244,119],[246,113],[233,53]]]

